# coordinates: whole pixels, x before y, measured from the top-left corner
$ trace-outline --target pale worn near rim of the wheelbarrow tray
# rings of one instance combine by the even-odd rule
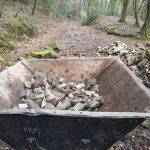
[[[150,119],[150,113],[143,112],[88,112],[71,110],[49,110],[49,109],[1,109],[0,115],[52,115],[52,116],[71,116],[85,118],[144,118]]]

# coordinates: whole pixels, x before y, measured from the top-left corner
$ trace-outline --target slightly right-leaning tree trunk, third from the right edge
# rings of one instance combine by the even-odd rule
[[[129,0],[123,0],[123,8],[122,8],[120,22],[125,22],[128,4],[129,4]]]

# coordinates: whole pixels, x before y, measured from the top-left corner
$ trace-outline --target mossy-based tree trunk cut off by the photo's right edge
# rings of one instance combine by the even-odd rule
[[[147,2],[147,13],[144,25],[141,29],[141,35],[144,35],[146,38],[150,38],[150,0]]]

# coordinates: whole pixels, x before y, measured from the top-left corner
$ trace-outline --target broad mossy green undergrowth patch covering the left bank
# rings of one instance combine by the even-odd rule
[[[16,49],[15,43],[36,34],[36,22],[25,17],[12,19],[0,28],[0,54]]]

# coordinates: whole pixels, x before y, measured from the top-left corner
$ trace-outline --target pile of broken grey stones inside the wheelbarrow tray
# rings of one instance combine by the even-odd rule
[[[31,81],[24,82],[20,104],[14,108],[99,111],[104,104],[99,92],[96,79],[84,82],[67,82],[64,78],[49,80],[44,73],[35,72]]]

